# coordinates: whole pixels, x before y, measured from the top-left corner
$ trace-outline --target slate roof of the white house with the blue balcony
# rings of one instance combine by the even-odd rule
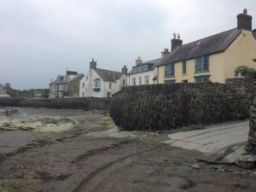
[[[124,75],[124,73],[109,71],[101,68],[96,68],[95,71],[102,78],[103,81],[108,82],[115,82]]]

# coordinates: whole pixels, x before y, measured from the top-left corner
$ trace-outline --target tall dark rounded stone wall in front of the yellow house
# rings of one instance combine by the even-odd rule
[[[250,79],[229,79],[227,84],[126,87],[113,96],[110,115],[124,130],[170,130],[247,119],[253,102],[252,83]]]

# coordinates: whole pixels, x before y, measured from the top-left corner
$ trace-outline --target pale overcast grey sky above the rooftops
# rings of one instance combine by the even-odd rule
[[[247,9],[256,28],[255,0],[0,0],[0,83],[49,88],[67,70],[121,72],[160,58],[173,33],[183,44],[236,27]]]

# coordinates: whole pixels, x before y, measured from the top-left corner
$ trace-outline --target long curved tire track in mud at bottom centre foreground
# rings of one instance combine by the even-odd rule
[[[154,151],[154,150],[157,150],[157,148],[151,148],[151,149],[148,149],[148,150],[145,150],[145,151],[142,151],[142,152],[138,152],[138,153],[135,153],[135,154],[125,155],[124,157],[121,157],[117,160],[113,160],[111,162],[108,162],[107,164],[104,164],[103,166],[97,168],[94,172],[90,172],[90,174],[87,177],[85,177],[84,180],[82,180],[79,183],[79,185],[75,189],[73,189],[72,192],[83,192],[85,186],[90,182],[90,180],[92,180],[94,177],[96,177],[102,171],[108,169],[108,167],[113,166],[114,164],[118,163],[119,161],[127,160],[127,159],[129,159],[131,157],[134,157],[134,156],[137,156],[139,154],[148,153],[148,152]]]

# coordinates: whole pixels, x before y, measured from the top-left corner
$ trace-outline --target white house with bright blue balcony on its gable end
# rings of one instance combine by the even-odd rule
[[[127,68],[122,72],[113,72],[96,67],[96,61],[90,62],[90,70],[80,80],[80,97],[112,97],[114,93],[127,85]]]

